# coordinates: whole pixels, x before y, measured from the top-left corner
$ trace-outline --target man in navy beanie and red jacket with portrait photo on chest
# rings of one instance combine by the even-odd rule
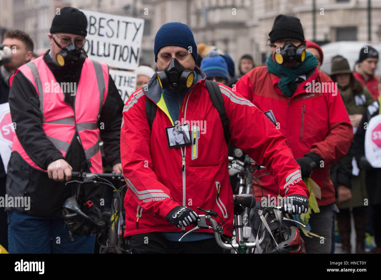
[[[160,27],[154,52],[159,72],[123,109],[125,237],[130,237],[133,253],[218,253],[210,229],[197,230],[184,242],[178,239],[203,213],[198,206],[217,211],[232,229],[233,196],[221,117],[210,99],[206,75],[195,67],[197,46],[188,26],[170,22]],[[181,77],[190,79],[183,83]],[[305,213],[309,191],[286,138],[250,101],[218,86],[230,141],[268,166],[278,192],[292,203],[285,205],[285,212]],[[150,102],[156,109],[151,127],[146,112]],[[180,130],[184,124],[188,128]],[[226,227],[224,234],[230,235]]]

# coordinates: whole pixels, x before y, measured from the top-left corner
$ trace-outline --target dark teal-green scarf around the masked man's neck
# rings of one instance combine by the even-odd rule
[[[272,54],[267,58],[267,71],[280,77],[278,86],[285,96],[291,97],[294,93],[288,88],[288,84],[294,82],[299,75],[306,74],[317,66],[317,59],[312,53],[306,52],[306,58],[293,68],[284,67],[272,60]]]

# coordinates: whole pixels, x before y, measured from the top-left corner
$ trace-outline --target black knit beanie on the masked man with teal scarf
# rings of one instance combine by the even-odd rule
[[[269,33],[270,43],[277,40],[291,38],[304,42],[303,27],[295,16],[280,14],[275,18],[274,25]]]

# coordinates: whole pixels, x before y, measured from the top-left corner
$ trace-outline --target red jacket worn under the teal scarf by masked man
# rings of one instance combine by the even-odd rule
[[[286,136],[295,158],[304,157],[308,152],[323,158],[323,167],[312,171],[311,178],[322,190],[322,199],[317,199],[318,205],[333,203],[335,189],[330,180],[330,165],[344,157],[353,138],[343,99],[339,91],[336,92],[332,80],[317,68],[298,86],[291,98],[282,94],[277,85],[279,80],[267,71],[266,66],[256,67],[243,75],[236,90],[263,112],[272,111],[277,128]],[[306,84],[310,85],[308,90]],[[324,92],[321,92],[321,86]],[[267,170],[256,172],[255,177],[265,172]],[[261,200],[262,192],[266,198],[278,195],[279,188],[271,176],[260,177],[257,181],[262,186],[261,189],[255,183],[257,201]]]

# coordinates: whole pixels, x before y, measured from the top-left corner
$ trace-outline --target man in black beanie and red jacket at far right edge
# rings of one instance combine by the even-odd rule
[[[363,46],[360,50],[359,61],[353,75],[366,86],[373,98],[378,98],[377,78],[375,71],[378,63],[378,51],[371,46]]]

